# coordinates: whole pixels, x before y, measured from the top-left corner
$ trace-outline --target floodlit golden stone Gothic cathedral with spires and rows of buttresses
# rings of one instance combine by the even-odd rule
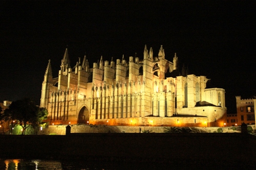
[[[205,76],[181,76],[178,57],[172,58],[166,60],[162,45],[157,56],[145,45],[143,59],[101,56],[90,68],[84,56],[71,67],[66,48],[56,78],[49,60],[40,107],[51,125],[223,126],[225,90],[206,87]]]

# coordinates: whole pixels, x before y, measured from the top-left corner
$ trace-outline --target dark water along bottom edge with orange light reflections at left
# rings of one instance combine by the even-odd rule
[[[101,162],[83,160],[25,160],[0,159],[0,170],[160,170],[160,169],[254,169],[252,164],[233,162],[208,163],[141,163],[141,162]]]

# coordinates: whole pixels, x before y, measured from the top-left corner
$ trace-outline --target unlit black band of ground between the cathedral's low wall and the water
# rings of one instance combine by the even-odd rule
[[[0,136],[2,159],[253,167],[256,136],[240,133],[90,133]]]

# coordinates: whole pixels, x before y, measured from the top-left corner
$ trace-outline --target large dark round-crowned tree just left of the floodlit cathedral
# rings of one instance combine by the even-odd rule
[[[48,112],[45,108],[39,108],[35,102],[26,98],[12,102],[8,109],[5,110],[5,119],[15,120],[22,126],[22,134],[26,133],[29,125],[39,125],[47,116]]]

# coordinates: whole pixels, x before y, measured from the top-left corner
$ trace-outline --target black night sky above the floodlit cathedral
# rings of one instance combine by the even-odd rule
[[[146,44],[224,88],[235,113],[236,95],[256,95],[255,9],[253,1],[1,1],[0,101],[39,105],[48,60],[57,77],[67,45],[73,67],[85,53],[91,65],[101,55],[142,59]]]

